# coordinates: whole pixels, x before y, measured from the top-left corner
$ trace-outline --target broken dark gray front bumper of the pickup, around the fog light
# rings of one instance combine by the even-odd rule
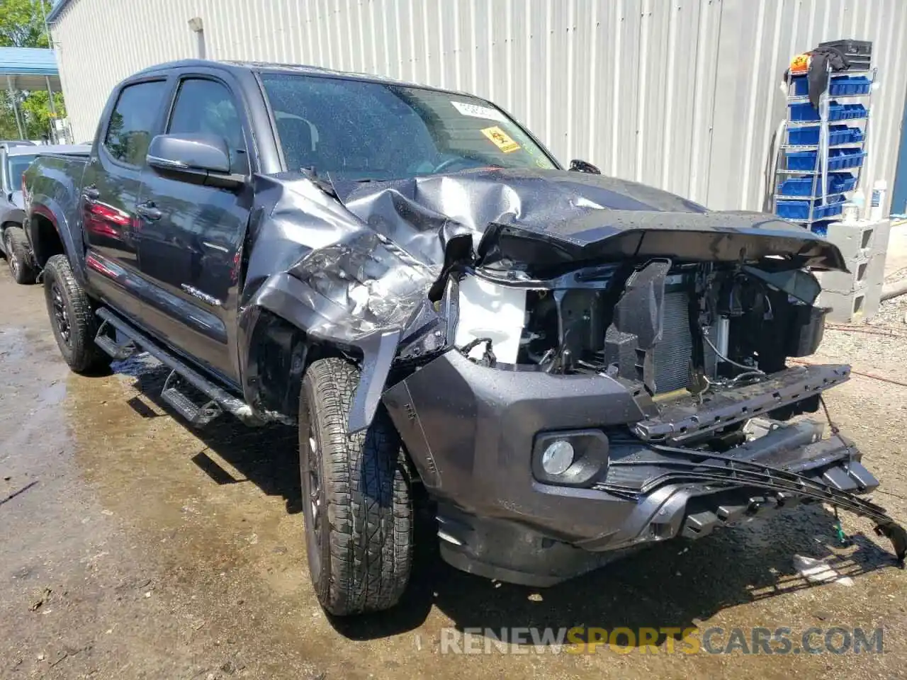
[[[545,586],[629,549],[698,538],[804,500],[885,518],[854,495],[878,485],[860,452],[841,435],[822,439],[819,423],[770,423],[723,456],[680,448],[693,430],[770,417],[848,376],[846,366],[797,367],[761,390],[750,385],[697,407],[658,408],[634,384],[604,375],[504,371],[451,351],[390,387],[384,402],[439,502],[444,559]],[[537,433],[589,429],[624,433],[611,436],[605,475],[588,488],[532,476]]]

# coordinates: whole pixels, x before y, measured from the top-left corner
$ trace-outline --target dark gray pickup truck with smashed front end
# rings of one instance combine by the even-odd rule
[[[191,423],[297,425],[332,614],[401,597],[420,499],[453,566],[533,586],[802,502],[903,559],[853,442],[791,421],[849,377],[787,365],[844,267],[792,223],[563,170],[470,95],[259,63],[135,74],[25,185],[73,370],[143,351]]]

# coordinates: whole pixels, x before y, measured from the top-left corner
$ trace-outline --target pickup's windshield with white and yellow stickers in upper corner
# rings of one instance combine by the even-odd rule
[[[500,109],[396,84],[263,73],[288,170],[395,180],[468,168],[555,165]]]

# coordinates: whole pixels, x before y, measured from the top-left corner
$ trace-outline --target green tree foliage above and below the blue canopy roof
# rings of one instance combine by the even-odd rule
[[[51,0],[0,0],[0,47],[49,47],[44,16],[51,11]],[[19,136],[15,114],[5,83],[0,82],[0,139]],[[16,105],[24,122],[26,139],[41,139],[53,125],[48,93],[44,90],[16,92]],[[54,93],[57,116],[66,115],[63,94]]]

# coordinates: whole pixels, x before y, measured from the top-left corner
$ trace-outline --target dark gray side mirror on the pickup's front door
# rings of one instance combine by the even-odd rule
[[[159,134],[148,147],[148,165],[164,177],[207,187],[237,189],[243,175],[229,171],[227,142],[210,134]]]

